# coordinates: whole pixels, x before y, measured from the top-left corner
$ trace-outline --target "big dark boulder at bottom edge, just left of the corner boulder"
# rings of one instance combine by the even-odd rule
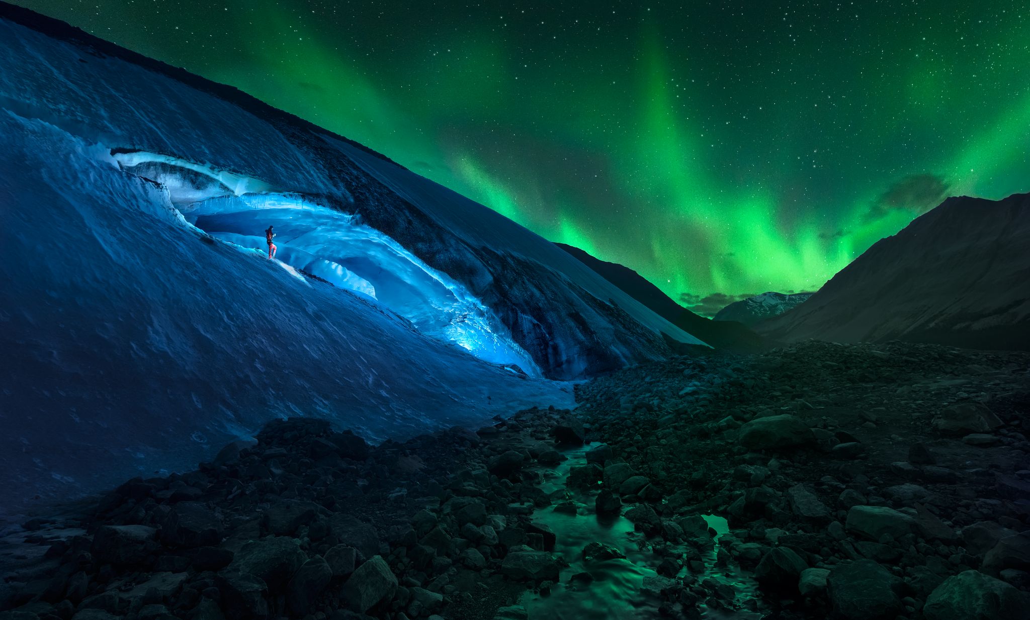
[[[833,569],[826,585],[833,615],[843,620],[894,620],[904,612],[901,580],[871,559]]]

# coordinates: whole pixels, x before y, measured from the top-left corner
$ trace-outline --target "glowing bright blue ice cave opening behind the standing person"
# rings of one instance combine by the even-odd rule
[[[426,265],[354,215],[260,180],[141,151],[112,151],[123,170],[160,183],[191,224],[246,251],[266,253],[272,225],[276,258],[333,286],[377,300],[421,333],[533,376],[540,369],[507,328],[464,286]]]

